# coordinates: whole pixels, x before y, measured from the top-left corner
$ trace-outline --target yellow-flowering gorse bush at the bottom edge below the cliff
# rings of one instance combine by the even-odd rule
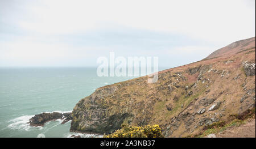
[[[104,138],[162,138],[159,125],[147,125],[144,127],[123,124],[122,128],[112,134],[104,135]]]

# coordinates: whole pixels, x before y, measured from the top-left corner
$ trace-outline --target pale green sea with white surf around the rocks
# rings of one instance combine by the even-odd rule
[[[0,137],[100,137],[69,132],[71,121],[27,124],[35,114],[71,112],[76,103],[96,90],[134,77],[98,77],[96,68],[1,68]]]

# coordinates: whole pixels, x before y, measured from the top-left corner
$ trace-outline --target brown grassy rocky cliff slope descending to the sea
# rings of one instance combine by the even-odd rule
[[[185,137],[255,107],[255,37],[221,53],[160,71],[156,83],[144,76],[98,88],[76,104],[71,131],[158,124],[165,137]]]

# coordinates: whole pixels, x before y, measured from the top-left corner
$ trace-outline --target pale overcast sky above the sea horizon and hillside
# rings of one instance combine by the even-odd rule
[[[199,61],[255,36],[255,0],[0,1],[0,67],[94,67],[98,57]]]

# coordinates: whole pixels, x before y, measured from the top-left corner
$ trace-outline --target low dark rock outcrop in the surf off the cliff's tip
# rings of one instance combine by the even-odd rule
[[[36,114],[34,117],[30,118],[30,126],[44,126],[44,124],[48,121],[55,121],[57,119],[62,119],[62,118],[68,118],[71,120],[70,117],[71,113],[59,113],[59,112],[53,112],[53,113],[41,113],[41,114]],[[69,120],[66,120],[69,121]],[[65,120],[64,120],[65,121]]]

